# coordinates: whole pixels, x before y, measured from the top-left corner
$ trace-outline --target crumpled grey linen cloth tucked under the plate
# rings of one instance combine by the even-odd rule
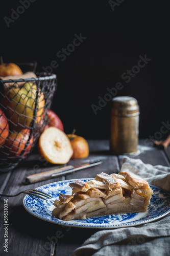
[[[133,167],[132,167],[133,166]],[[144,164],[125,157],[121,171],[135,173],[150,184],[170,192],[170,167]],[[94,233],[71,256],[168,256],[170,215],[135,227],[101,230]]]

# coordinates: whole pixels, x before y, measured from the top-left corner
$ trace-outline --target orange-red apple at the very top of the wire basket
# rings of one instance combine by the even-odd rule
[[[21,69],[15,63],[3,63],[1,57],[0,76],[22,75]]]

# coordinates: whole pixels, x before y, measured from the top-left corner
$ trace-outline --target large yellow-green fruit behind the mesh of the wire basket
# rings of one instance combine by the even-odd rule
[[[20,88],[11,88],[6,91],[3,104],[7,107],[7,116],[12,121],[11,126],[15,131],[29,128],[34,117],[37,86],[35,83],[25,83]],[[44,111],[44,95],[39,91],[36,122],[42,118]]]

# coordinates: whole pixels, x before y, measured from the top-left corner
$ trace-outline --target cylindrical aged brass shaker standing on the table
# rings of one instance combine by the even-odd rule
[[[135,98],[119,96],[112,99],[110,120],[110,150],[113,155],[137,152],[139,105]]]

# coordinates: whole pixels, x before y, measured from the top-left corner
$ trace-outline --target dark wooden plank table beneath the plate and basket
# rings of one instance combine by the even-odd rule
[[[123,156],[113,156],[109,152],[108,140],[88,140],[90,155],[88,158],[70,160],[68,164],[78,166],[87,161],[102,160],[102,164],[80,170],[74,174],[24,185],[25,178],[33,173],[52,169],[54,165],[46,163],[36,153],[31,154],[21,162],[16,169],[9,173],[0,173],[0,193],[12,195],[27,188],[38,186],[64,179],[78,179],[95,177],[100,172],[107,174],[117,173],[122,165]],[[138,153],[132,158],[140,158],[144,163],[169,166],[170,148],[161,150],[152,145],[148,140],[139,141]],[[1,251],[0,255],[10,256],[68,256],[79,247],[87,238],[99,229],[76,228],[55,225],[40,220],[27,212],[22,206],[25,195],[8,198],[8,253],[4,251],[4,199],[1,198]],[[100,229],[101,230],[101,229]]]

